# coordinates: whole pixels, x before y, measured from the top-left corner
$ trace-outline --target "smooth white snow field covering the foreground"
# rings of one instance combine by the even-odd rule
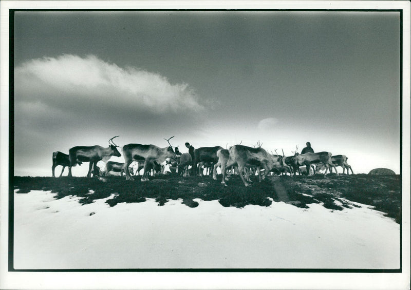
[[[329,210],[283,202],[269,207],[196,208],[153,199],[81,205],[49,191],[14,194],[14,268],[396,269],[400,226],[367,205]],[[91,214],[91,215],[90,215]]]

